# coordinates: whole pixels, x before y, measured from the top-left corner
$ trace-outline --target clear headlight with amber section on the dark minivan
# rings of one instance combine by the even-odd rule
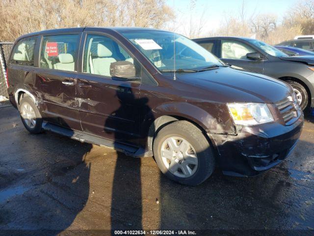
[[[274,120],[264,103],[230,103],[227,106],[235,124],[255,125]]]

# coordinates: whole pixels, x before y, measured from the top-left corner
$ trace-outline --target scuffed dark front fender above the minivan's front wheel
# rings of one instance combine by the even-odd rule
[[[140,96],[148,100],[147,107],[149,107],[149,111],[141,110],[141,146],[147,146],[147,137],[152,137],[149,140],[153,140],[155,132],[149,133],[149,130],[156,131],[158,127],[152,128],[151,126],[156,126],[154,121],[158,118],[162,118],[162,123],[172,122],[173,118],[183,118],[191,120],[207,133],[235,135],[235,127],[225,103],[195,99],[193,94],[188,97],[183,96],[178,88],[165,92],[164,88],[170,87],[169,81],[158,82],[159,84],[164,82],[164,87],[141,85]],[[179,82],[176,84],[177,87],[180,85]],[[146,148],[151,149],[152,147]]]

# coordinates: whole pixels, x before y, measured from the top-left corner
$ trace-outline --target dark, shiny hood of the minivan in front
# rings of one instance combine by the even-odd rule
[[[236,70],[231,67],[180,73],[178,79],[199,89],[211,101],[276,103],[291,95],[292,88],[285,82],[262,74]]]

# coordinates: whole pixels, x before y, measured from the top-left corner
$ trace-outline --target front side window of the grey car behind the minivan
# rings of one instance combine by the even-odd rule
[[[223,59],[246,60],[248,53],[255,52],[253,48],[241,42],[232,40],[222,40],[221,42],[221,58]]]

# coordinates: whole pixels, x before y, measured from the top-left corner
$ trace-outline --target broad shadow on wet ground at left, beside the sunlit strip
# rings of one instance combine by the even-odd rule
[[[0,233],[56,235],[87,202],[85,155],[92,145],[49,132],[31,135],[15,110],[0,112],[9,115],[0,116]]]

